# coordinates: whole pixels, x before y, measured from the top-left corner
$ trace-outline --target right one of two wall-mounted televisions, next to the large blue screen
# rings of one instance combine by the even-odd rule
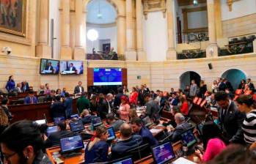
[[[61,61],[59,70],[62,75],[80,75],[84,73],[84,62]]]

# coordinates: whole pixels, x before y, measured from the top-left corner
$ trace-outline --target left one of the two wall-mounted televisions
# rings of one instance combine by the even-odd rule
[[[59,60],[41,59],[40,74],[58,75],[59,74]]]

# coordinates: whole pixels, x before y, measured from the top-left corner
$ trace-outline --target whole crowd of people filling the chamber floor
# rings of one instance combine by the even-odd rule
[[[13,78],[10,77],[12,84],[8,84],[8,89],[14,89]],[[15,85],[14,85],[15,86]],[[250,79],[241,81],[238,89],[252,90],[255,88]],[[22,90],[22,89],[21,89]],[[106,142],[109,134],[105,125],[100,125],[95,130],[95,135],[90,139],[85,148],[85,163],[100,163],[114,160],[125,156],[128,150],[136,148],[138,145],[147,143],[155,146],[159,143],[149,128],[145,126],[142,119],[149,117],[155,124],[161,124],[167,129],[164,138],[168,136],[169,141],[175,143],[180,141],[180,134],[189,130],[192,125],[189,123],[189,110],[191,100],[194,97],[202,97],[207,100],[206,108],[216,108],[218,118],[204,122],[202,127],[202,151],[197,150],[196,154],[205,163],[255,163],[256,149],[256,103],[252,95],[241,94],[235,101],[233,86],[227,79],[219,78],[213,82],[210,90],[204,81],[197,86],[194,80],[191,86],[186,86],[184,90],[171,89],[171,92],[156,93],[150,91],[147,85],[132,87],[131,92],[126,86],[117,89],[117,93],[89,93],[84,92],[81,81],[74,89],[75,94],[81,95],[77,100],[77,112],[83,124],[89,124],[96,116],[106,120],[114,131],[120,131],[120,139],[117,143],[109,146]],[[51,117],[64,116],[70,119],[73,114],[73,98],[66,92],[66,89],[51,90],[48,83],[40,86],[37,92],[44,96],[45,100],[52,101]],[[59,145],[59,139],[72,136],[73,133],[67,130],[65,122],[59,122],[58,132],[52,133],[45,138],[45,127],[40,127],[30,121],[16,122],[10,125],[12,115],[7,108],[8,99],[1,100],[0,112],[0,136],[2,160],[9,163],[19,163],[26,160],[27,163],[41,161],[48,163],[45,156],[45,147]],[[29,96],[24,103],[37,103],[34,92],[29,90]],[[136,108],[145,106],[142,114],[138,116]],[[174,120],[169,122],[161,121],[162,111],[172,111]],[[24,128],[27,127],[27,128]],[[16,135],[21,136],[15,138]],[[27,134],[27,135],[26,135]],[[24,138],[24,139],[23,139]],[[29,140],[29,139],[30,140]],[[11,142],[15,140],[15,142]],[[24,142],[21,142],[24,141]],[[21,144],[22,143],[22,144]],[[15,144],[17,144],[15,146]],[[239,144],[241,146],[236,146]],[[237,149],[230,149],[236,147]],[[246,149],[248,148],[248,149]],[[243,154],[237,154],[234,159],[228,161],[225,157],[239,153],[243,149]],[[232,150],[228,152],[228,150]],[[247,155],[248,157],[244,157]],[[238,157],[239,156],[239,157]],[[13,160],[14,159],[14,160]],[[18,162],[17,162],[18,161]],[[225,162],[223,162],[225,161]]]

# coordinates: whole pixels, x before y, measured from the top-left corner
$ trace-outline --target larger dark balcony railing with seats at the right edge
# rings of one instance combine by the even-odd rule
[[[230,56],[243,53],[252,53],[255,35],[248,37],[233,38],[224,48],[219,48],[219,56]]]

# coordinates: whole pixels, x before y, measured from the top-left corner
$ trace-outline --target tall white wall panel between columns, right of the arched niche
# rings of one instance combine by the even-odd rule
[[[163,12],[149,12],[144,21],[147,61],[165,61],[167,55],[167,18]]]

